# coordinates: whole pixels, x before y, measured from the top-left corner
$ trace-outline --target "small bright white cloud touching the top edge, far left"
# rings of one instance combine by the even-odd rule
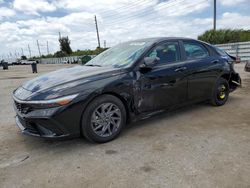
[[[46,0],[14,0],[13,7],[15,10],[31,15],[39,15],[39,12],[56,10],[56,6]]]

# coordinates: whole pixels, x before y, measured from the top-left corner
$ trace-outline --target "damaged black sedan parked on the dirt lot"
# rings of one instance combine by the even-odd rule
[[[194,102],[226,103],[241,85],[234,58],[187,38],[119,44],[84,66],[30,80],[13,92],[16,124],[45,138],[116,138],[131,121]]]

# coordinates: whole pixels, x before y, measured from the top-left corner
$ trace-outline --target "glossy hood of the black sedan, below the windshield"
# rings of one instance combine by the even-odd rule
[[[31,93],[42,92],[43,90],[76,82],[78,80],[86,83],[104,79],[105,77],[117,75],[120,72],[120,69],[112,67],[74,66],[36,77],[26,82],[22,87]]]

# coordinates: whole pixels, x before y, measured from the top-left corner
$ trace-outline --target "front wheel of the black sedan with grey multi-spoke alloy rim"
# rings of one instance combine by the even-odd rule
[[[105,94],[87,106],[83,112],[81,130],[90,142],[105,143],[115,139],[125,124],[126,109],[122,101]]]

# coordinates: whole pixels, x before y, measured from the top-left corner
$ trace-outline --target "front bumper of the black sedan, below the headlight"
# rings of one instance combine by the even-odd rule
[[[16,125],[25,135],[48,139],[79,137],[82,105],[32,109],[23,113],[14,104]]]

